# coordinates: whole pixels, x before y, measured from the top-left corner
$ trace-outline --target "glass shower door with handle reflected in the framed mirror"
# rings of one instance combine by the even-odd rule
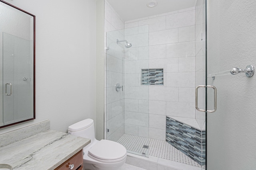
[[[16,123],[32,117],[32,41],[3,33],[3,122]],[[32,74],[32,75],[31,75]]]

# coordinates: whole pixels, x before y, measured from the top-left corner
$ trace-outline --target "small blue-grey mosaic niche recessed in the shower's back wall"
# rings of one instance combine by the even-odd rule
[[[141,85],[164,85],[164,69],[141,69]]]

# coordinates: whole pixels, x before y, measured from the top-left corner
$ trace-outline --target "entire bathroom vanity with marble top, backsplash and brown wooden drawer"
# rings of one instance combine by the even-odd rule
[[[0,135],[0,168],[82,170],[82,149],[90,139],[50,130],[50,121]]]

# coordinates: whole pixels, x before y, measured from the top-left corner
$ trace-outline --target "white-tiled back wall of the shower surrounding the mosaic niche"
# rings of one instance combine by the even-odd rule
[[[126,21],[124,33],[128,42],[142,43],[125,49],[125,59],[129,61],[124,64],[124,131],[165,141],[166,115],[196,118],[195,8]],[[144,34],[148,34],[146,42]],[[164,86],[141,85],[141,68],[164,68]],[[149,113],[148,117],[144,113]],[[130,115],[136,115],[140,122],[129,121]]]

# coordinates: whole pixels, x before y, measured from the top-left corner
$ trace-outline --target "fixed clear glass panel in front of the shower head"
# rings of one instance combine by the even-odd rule
[[[110,31],[106,46],[106,139],[148,157],[149,86],[141,80],[142,69],[148,69],[149,63],[148,32],[138,33],[138,27]]]

